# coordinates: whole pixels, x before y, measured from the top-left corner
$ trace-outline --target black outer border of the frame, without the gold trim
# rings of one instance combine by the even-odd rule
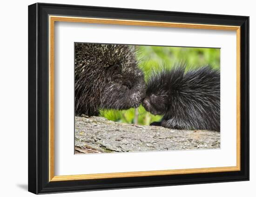
[[[49,182],[48,15],[241,27],[241,170]],[[28,6],[28,191],[35,194],[249,180],[249,17],[35,3]]]

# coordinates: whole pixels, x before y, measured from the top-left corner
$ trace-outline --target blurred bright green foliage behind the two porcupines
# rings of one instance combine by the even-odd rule
[[[171,68],[175,64],[185,64],[186,68],[196,68],[210,65],[220,69],[220,49],[139,45],[135,47],[139,67],[144,71],[146,82],[152,71],[160,70],[162,66]],[[100,115],[108,120],[140,125],[149,125],[162,118],[160,115],[150,114],[142,106],[128,110],[102,110]]]

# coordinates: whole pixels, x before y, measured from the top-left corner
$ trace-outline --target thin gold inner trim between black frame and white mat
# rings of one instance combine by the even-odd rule
[[[236,31],[236,166],[55,176],[54,175],[54,22],[55,21]],[[99,179],[99,178],[124,178],[124,177],[143,177],[143,176],[191,174],[191,173],[206,173],[206,172],[240,171],[240,117],[241,117],[240,26],[172,23],[172,22],[156,22],[156,21],[124,20],[124,19],[99,19],[99,18],[83,18],[83,17],[49,15],[49,65],[48,66],[49,66],[49,181],[70,181],[70,180]]]

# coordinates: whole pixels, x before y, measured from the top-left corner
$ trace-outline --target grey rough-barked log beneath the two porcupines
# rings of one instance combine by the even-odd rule
[[[174,130],[75,117],[75,153],[171,151],[220,148],[220,132]]]

